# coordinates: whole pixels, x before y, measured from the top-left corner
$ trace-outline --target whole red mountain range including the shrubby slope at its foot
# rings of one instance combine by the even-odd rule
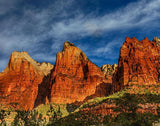
[[[159,43],[157,37],[127,37],[118,66],[101,68],[68,41],[54,66],[34,61],[27,52],[13,52],[0,73],[0,104],[33,109],[56,119],[53,125],[152,125],[160,118]]]

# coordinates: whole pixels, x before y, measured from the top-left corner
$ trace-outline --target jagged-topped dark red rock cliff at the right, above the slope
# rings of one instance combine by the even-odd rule
[[[118,68],[113,75],[113,91],[133,84],[160,82],[160,48],[145,38],[126,38],[120,50]]]

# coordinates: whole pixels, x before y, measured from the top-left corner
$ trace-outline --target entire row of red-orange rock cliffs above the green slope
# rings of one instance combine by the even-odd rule
[[[0,73],[0,104],[31,110],[49,102],[82,103],[131,85],[159,85],[158,43],[158,38],[138,41],[127,37],[120,49],[118,66],[105,64],[101,68],[68,41],[57,53],[55,66],[38,63],[27,52],[13,52]]]

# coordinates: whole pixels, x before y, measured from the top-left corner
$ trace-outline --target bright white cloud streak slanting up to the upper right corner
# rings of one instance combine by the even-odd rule
[[[150,2],[141,0],[100,17],[76,16],[74,19],[66,19],[53,24],[52,33],[57,37],[66,36],[67,34],[87,36],[93,35],[97,31],[109,32],[115,29],[143,27],[146,23],[151,24],[153,20],[160,18],[159,5],[160,0]]]

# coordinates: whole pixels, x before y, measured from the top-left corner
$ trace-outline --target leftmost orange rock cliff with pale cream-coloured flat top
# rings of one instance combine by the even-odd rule
[[[0,104],[31,110],[38,85],[52,68],[49,63],[37,63],[27,52],[13,52],[8,66],[0,73]]]

